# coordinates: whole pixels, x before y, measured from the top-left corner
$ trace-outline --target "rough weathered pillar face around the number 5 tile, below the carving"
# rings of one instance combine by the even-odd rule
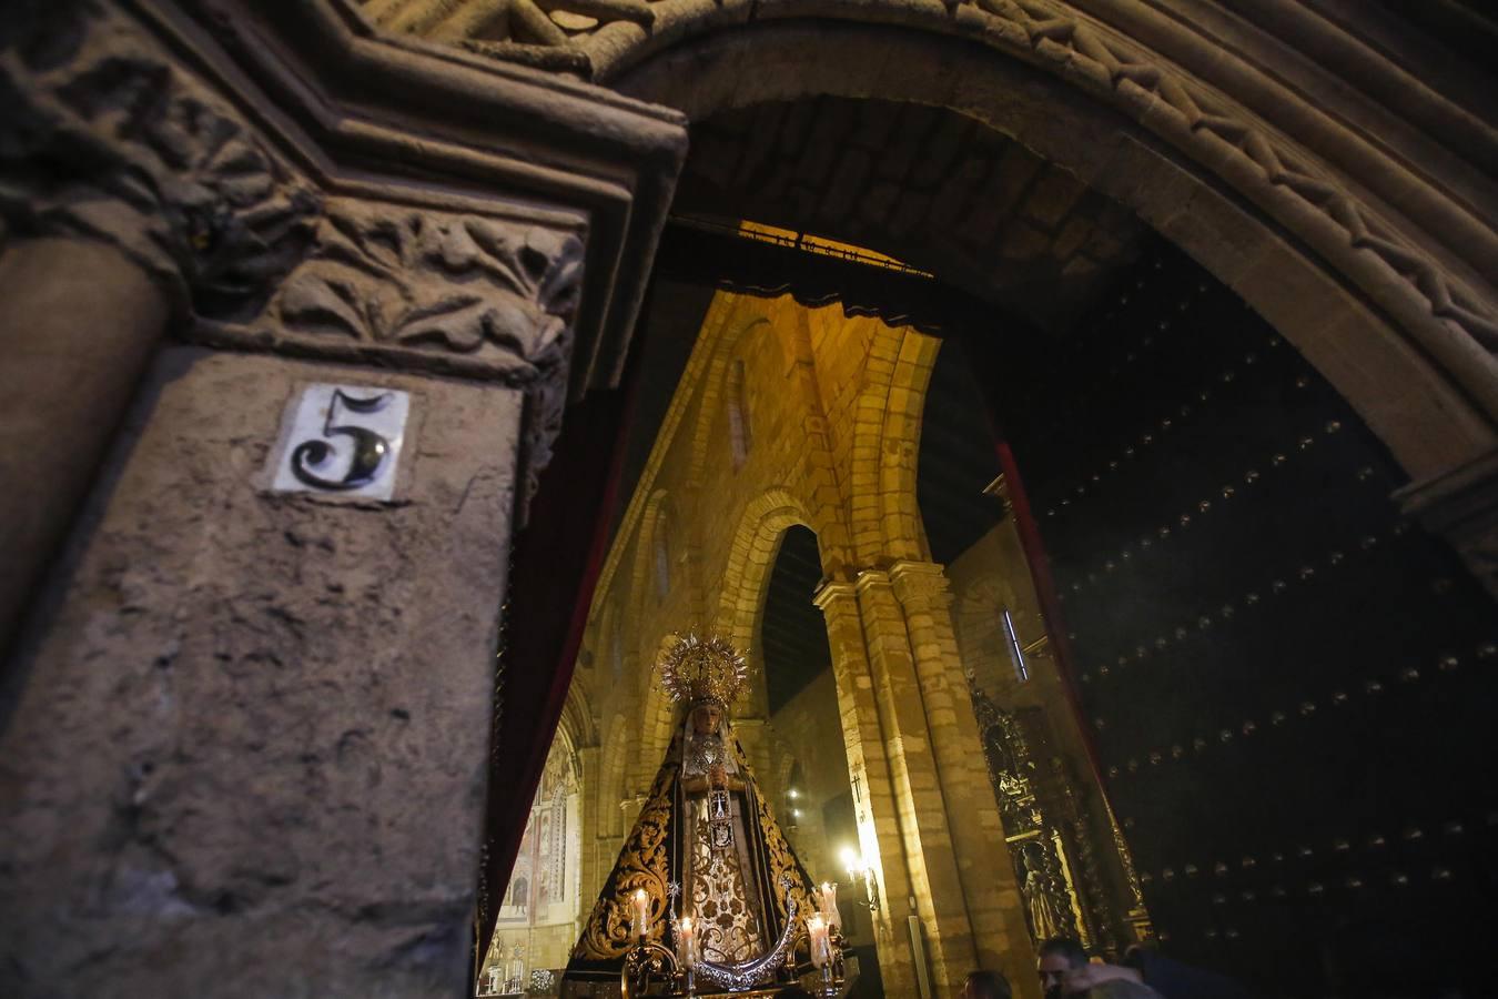
[[[270,490],[309,382],[410,392],[394,502]],[[12,664],[13,995],[461,981],[521,404],[490,385],[162,353],[58,607]]]

